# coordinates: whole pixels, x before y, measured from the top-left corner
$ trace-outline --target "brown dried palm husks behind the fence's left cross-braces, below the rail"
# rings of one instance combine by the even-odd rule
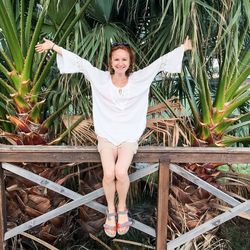
[[[64,171],[67,165],[64,164],[64,168],[57,166],[55,169],[42,165],[38,167],[37,164],[25,164],[22,167],[28,170],[32,169],[36,174],[49,177],[50,180],[62,184],[71,177],[71,174]],[[8,174],[8,178],[6,178],[6,198],[9,228],[27,222],[68,202],[68,198],[38,186],[32,180],[17,178],[13,174]],[[53,245],[57,242],[66,244],[72,242],[72,232],[76,227],[75,221],[76,212],[73,210],[37,226],[32,230],[32,234]]]

